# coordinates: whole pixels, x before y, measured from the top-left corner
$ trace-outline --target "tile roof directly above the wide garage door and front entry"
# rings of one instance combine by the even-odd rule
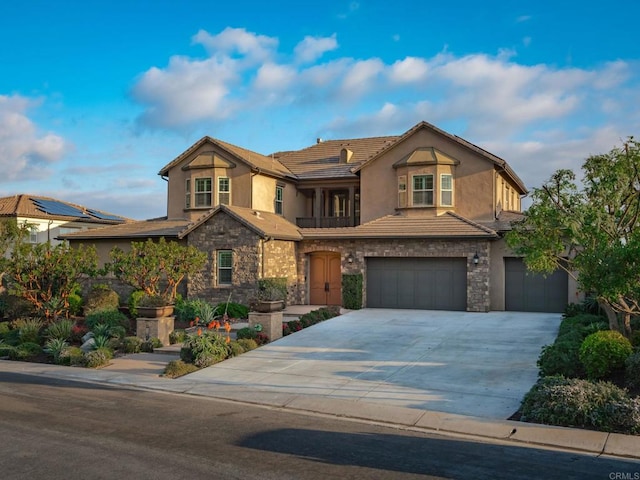
[[[302,228],[305,239],[321,238],[496,238],[497,233],[453,212],[438,217],[387,215],[357,227]]]

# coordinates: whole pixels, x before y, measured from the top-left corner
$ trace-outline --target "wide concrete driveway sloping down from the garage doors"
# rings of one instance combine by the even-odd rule
[[[393,405],[494,419],[537,379],[560,314],[364,309],[189,375],[220,391]],[[364,405],[362,405],[364,407]]]

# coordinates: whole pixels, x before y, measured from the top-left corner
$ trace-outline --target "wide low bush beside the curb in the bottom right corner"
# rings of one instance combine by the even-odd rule
[[[640,399],[609,382],[544,377],[522,401],[522,421],[640,433]]]

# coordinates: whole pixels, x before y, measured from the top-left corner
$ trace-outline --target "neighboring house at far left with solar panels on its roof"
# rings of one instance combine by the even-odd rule
[[[118,225],[131,220],[101,210],[38,195],[13,195],[0,198],[0,218],[14,219],[30,226],[30,243],[60,243],[60,235]]]

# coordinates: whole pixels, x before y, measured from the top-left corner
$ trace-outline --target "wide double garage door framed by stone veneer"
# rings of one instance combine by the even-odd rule
[[[465,258],[368,258],[367,307],[467,309]]]

